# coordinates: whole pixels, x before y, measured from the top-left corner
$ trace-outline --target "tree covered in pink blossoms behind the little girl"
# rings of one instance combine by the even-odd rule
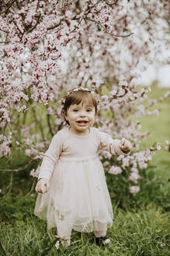
[[[169,42],[168,1],[5,0],[0,12],[0,157],[12,158],[15,148],[29,158],[19,169],[1,170],[17,172],[40,161],[50,138],[64,125],[64,92],[88,87],[100,100],[95,125],[133,144],[131,155],[116,158],[113,166],[112,156],[101,151],[106,171],[116,175],[128,168],[130,192],[136,194],[140,169],[161,148],[155,144],[139,151],[138,141],[147,133],[130,117],[158,111],[144,108],[150,88],[140,91],[136,79],[148,65],[168,63],[168,54],[161,58]],[[37,172],[33,169],[31,175]]]

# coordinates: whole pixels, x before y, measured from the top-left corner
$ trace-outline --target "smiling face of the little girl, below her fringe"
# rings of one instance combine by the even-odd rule
[[[95,122],[95,107],[82,103],[71,105],[65,114],[65,119],[70,123],[72,132],[85,135]]]

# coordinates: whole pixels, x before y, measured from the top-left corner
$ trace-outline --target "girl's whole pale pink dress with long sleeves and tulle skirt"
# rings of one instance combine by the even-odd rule
[[[113,208],[99,160],[99,149],[123,155],[120,140],[90,128],[79,136],[68,128],[57,132],[40,166],[40,178],[50,180],[46,194],[38,194],[35,215],[47,220],[47,228],[65,221],[79,232],[99,231],[99,224],[111,227]]]

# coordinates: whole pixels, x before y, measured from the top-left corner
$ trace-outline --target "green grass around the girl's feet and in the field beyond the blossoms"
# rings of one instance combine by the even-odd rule
[[[158,98],[165,89],[152,88],[149,98]],[[150,147],[154,141],[165,144],[170,140],[170,99],[158,104],[160,116],[142,117],[143,131],[151,136],[141,141],[141,148]],[[0,199],[0,255],[7,256],[168,256],[169,249],[169,186],[170,152],[158,151],[149,167],[144,170],[141,191],[137,196],[123,197],[123,204],[114,201],[112,186],[114,176],[107,179],[113,201],[114,223],[108,230],[111,244],[98,247],[92,243],[92,233],[73,232],[71,247],[57,251],[54,247],[56,229],[47,232],[47,224],[33,215],[36,193],[29,191],[33,177],[19,173],[13,180],[9,196]],[[1,180],[9,182],[2,173]],[[2,182],[1,186],[6,181]]]

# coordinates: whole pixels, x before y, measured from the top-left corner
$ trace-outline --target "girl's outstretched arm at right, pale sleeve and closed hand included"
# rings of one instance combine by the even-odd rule
[[[109,151],[112,155],[127,155],[130,152],[131,144],[125,138],[113,140],[109,134],[99,131],[99,139],[99,149]]]

